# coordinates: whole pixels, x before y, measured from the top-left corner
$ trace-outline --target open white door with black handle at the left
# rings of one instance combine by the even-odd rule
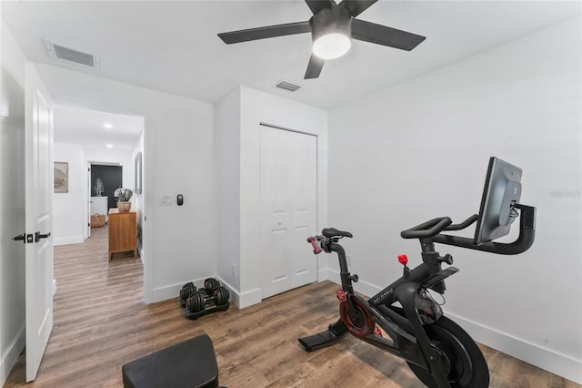
[[[53,105],[26,65],[26,381],[35,380],[53,330]]]

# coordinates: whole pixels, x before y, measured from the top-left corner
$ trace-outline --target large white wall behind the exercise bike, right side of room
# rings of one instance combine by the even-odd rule
[[[527,252],[455,247],[445,310],[479,342],[582,383],[580,19],[499,46],[330,112],[330,226],[346,241],[356,290],[401,274],[405,230],[478,212],[487,160],[524,169],[522,203],[537,207]],[[472,231],[472,230],[471,230]],[[335,258],[330,258],[332,272]],[[337,274],[330,278],[339,280]]]

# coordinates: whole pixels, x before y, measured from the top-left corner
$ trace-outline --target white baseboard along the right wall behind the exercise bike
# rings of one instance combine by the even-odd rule
[[[327,270],[327,279],[340,284],[339,273],[334,270]],[[364,295],[373,296],[381,289],[366,281],[358,281],[354,285],[357,292]],[[445,311],[447,317],[457,322],[463,329],[471,334],[476,342],[493,348],[499,352],[504,352],[523,362],[530,363],[540,369],[558,376],[582,384],[582,361],[568,357],[564,354],[545,349],[527,340],[513,337],[505,332],[498,332],[477,322],[469,321],[456,314]]]

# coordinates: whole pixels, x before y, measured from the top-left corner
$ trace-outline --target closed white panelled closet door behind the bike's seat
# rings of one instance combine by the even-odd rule
[[[317,280],[306,238],[317,228],[317,138],[260,127],[261,290],[267,298]]]

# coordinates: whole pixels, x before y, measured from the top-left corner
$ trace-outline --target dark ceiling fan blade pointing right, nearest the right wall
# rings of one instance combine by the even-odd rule
[[[410,51],[418,46],[426,36],[419,36],[388,26],[376,25],[364,20],[352,20],[352,37],[365,42]]]

